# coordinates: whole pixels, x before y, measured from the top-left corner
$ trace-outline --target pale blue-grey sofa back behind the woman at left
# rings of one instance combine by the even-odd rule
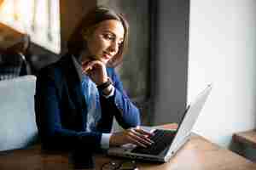
[[[0,151],[37,142],[35,87],[36,77],[32,75],[0,81]]]

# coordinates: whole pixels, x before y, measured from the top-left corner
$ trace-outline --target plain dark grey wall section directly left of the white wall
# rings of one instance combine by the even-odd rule
[[[187,99],[189,0],[152,3],[155,11],[152,123],[179,122]]]

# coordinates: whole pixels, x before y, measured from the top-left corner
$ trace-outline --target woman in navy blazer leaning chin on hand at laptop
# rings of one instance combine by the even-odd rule
[[[138,127],[139,111],[113,69],[127,42],[125,18],[97,7],[79,22],[67,42],[68,53],[39,72],[35,107],[45,149],[153,143],[151,133]],[[125,131],[111,133],[113,116]]]

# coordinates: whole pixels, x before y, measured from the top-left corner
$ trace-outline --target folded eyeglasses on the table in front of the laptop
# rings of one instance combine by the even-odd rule
[[[135,161],[109,161],[102,165],[102,170],[138,170]]]

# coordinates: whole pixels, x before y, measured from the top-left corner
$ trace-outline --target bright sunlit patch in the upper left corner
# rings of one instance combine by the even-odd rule
[[[56,54],[61,51],[58,0],[3,0],[0,22],[30,35],[39,46]]]

